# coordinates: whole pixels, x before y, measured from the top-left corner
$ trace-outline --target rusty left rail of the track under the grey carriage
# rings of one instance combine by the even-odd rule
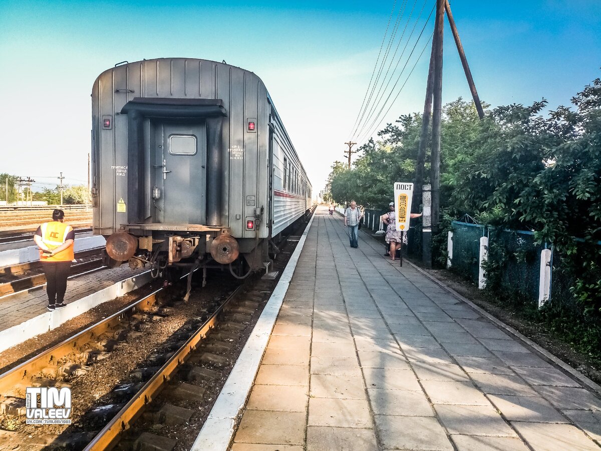
[[[150,295],[139,299],[134,304],[131,304],[117,313],[112,314],[108,318],[97,322],[94,325],[82,330],[78,334],[69,339],[64,340],[58,345],[53,346],[50,349],[30,358],[23,362],[19,366],[14,367],[11,370],[0,375],[0,397],[5,396],[6,393],[14,391],[15,388],[26,388],[28,383],[41,370],[48,366],[57,366],[58,361],[61,358],[66,357],[74,351],[78,351],[78,348],[96,337],[102,335],[107,330],[114,328],[116,325],[123,322],[126,318],[129,318],[132,314],[137,311],[152,311],[154,304],[157,303],[156,295],[161,292],[164,288],[156,290]]]

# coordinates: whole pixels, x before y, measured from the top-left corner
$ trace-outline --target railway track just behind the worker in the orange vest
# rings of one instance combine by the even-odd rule
[[[76,253],[76,263],[71,266],[71,276],[103,268],[102,257],[100,257],[102,249],[95,248]],[[29,262],[0,268],[0,297],[46,283],[41,265],[40,262]]]

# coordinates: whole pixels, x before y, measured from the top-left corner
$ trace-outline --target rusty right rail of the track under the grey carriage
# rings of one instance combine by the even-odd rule
[[[160,367],[159,371],[150,378],[144,387],[136,393],[130,401],[124,405],[117,415],[94,437],[94,439],[85,447],[84,451],[110,450],[117,445],[120,435],[129,429],[133,422],[142,414],[144,408],[153,401],[160,393],[163,386],[169,382],[189,355],[197,349],[198,343],[206,337],[207,332],[217,324],[218,315],[224,310],[227,304],[240,292],[243,286],[237,287],[225,301],[213,312],[213,314],[201,325],[192,336],[186,340],[186,343],[177,351],[166,363]]]

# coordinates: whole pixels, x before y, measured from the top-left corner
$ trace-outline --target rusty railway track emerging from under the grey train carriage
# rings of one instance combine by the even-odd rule
[[[13,424],[22,423],[28,387],[67,387],[75,393],[78,378],[94,372],[96,364],[109,358],[112,352],[126,348],[128,342],[141,339],[144,331],[165,321],[182,307],[183,302],[173,301],[181,298],[181,288],[183,284],[182,287],[156,290],[0,375],[0,414],[5,418],[12,417]],[[245,298],[246,300],[240,301],[242,290],[243,286],[240,286],[225,300],[209,302],[207,313],[183,322],[165,342],[157,344],[150,354],[138,362],[129,375],[123,378],[123,383],[115,385],[105,394],[99,405],[94,405],[79,417],[75,427],[60,431],[54,437],[46,435],[41,438],[29,437],[32,426],[25,427],[23,435],[27,435],[23,437],[19,434],[19,441],[23,446],[19,449],[38,449],[44,446],[47,449],[112,449],[124,432],[126,440],[120,445],[121,449],[131,449],[135,443],[148,441],[148,434],[142,433],[140,437],[132,438],[127,433],[131,434],[133,423],[162,391],[169,391],[172,399],[198,401],[202,399],[206,389],[195,385],[195,382],[210,378],[216,367],[228,363],[227,358],[220,355],[221,352],[230,349],[234,340],[240,338],[240,331],[248,327],[251,316],[256,313],[264,298],[251,294],[247,296],[255,300]],[[231,305],[233,301],[239,302]],[[225,315],[221,321],[227,324],[221,325],[218,333],[212,333],[212,342],[208,343],[205,341],[206,337],[218,325],[220,315]],[[195,366],[195,363],[200,366]],[[182,368],[183,374],[176,376]],[[177,384],[166,387],[175,379],[179,379]],[[73,399],[75,403],[75,396]],[[164,419],[166,413],[173,411],[177,411],[177,418],[181,418],[184,408],[169,404],[153,410],[153,418]],[[172,423],[174,417],[172,414],[168,416]],[[108,424],[104,425],[107,421]],[[10,425],[3,424],[2,427],[10,429]],[[99,429],[101,430],[97,433]],[[28,440],[29,438],[33,440]],[[152,440],[170,439],[158,437]],[[0,449],[3,449],[2,446]]]

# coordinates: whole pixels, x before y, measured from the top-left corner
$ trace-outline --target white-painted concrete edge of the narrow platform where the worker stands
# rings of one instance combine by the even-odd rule
[[[21,324],[0,331],[0,352],[5,351],[5,349],[11,348],[12,346],[19,345],[19,343],[23,343],[25,340],[29,340],[32,337],[56,329],[59,325],[85,313],[103,302],[111,301],[119,296],[126,295],[130,291],[148,283],[151,279],[150,271],[142,272],[142,274],[134,275],[126,280],[117,282],[110,287],[106,287],[96,293],[85,296],[85,298],[69,302],[67,307],[61,308],[60,310],[47,311],[46,313],[28,319]]]

